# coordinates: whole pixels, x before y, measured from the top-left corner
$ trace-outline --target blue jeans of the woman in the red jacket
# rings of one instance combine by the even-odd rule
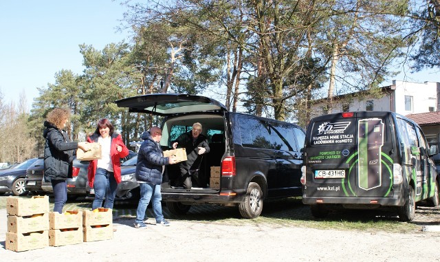
[[[91,204],[91,209],[102,207],[102,201],[105,203],[104,208],[113,209],[113,202],[115,201],[116,188],[118,188],[118,182],[116,182],[113,172],[109,172],[104,168],[96,168],[95,174],[95,199]]]

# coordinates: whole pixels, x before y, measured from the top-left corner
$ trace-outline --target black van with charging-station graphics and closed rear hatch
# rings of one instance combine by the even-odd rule
[[[415,203],[439,205],[439,176],[419,125],[397,113],[358,111],[319,116],[305,139],[303,203],[314,217],[332,208],[395,207],[401,221]]]

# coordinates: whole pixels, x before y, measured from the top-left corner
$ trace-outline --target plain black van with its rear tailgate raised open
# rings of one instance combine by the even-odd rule
[[[184,214],[192,204],[239,206],[242,217],[261,214],[263,199],[301,195],[305,132],[296,124],[233,113],[220,102],[186,94],[150,94],[115,101],[130,112],[163,116],[162,149],[199,122],[210,152],[199,175],[206,185],[190,190],[173,186],[178,165],[166,166],[162,199],[170,212]],[[219,166],[219,188],[210,184],[210,167]]]

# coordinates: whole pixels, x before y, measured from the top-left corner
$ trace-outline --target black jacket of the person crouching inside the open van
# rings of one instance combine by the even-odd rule
[[[179,163],[181,175],[186,175],[186,173],[188,173],[188,171],[190,170],[199,169],[202,156],[206,153],[209,153],[209,144],[206,136],[200,134],[193,144],[192,133],[191,131],[189,131],[179,135],[179,138],[171,142],[171,144],[174,144],[174,142],[179,143],[177,144],[177,148],[185,148],[186,157],[188,159],[184,162]],[[203,153],[202,155],[199,155],[199,147],[204,147],[206,149],[205,153]]]

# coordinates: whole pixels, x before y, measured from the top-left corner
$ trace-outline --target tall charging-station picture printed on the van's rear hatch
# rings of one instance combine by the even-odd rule
[[[384,123],[380,118],[358,122],[358,184],[364,190],[382,186]]]

